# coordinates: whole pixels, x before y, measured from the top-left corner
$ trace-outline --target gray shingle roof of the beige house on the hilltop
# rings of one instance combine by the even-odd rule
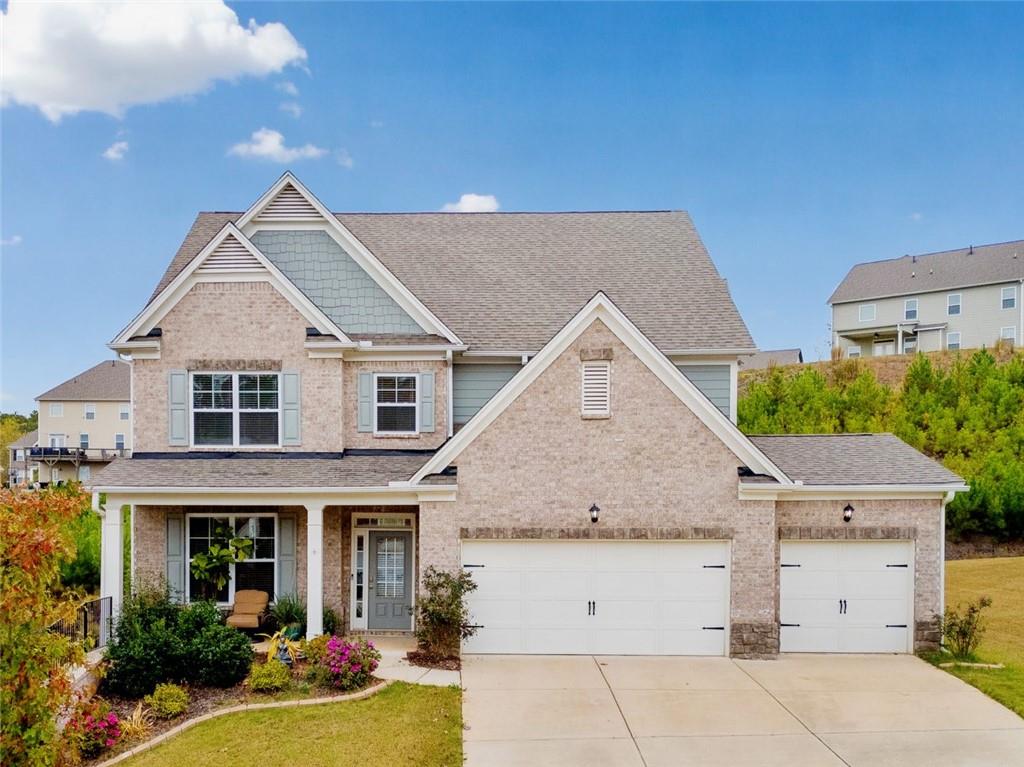
[[[828,303],[1024,280],[1024,240],[858,263]]]

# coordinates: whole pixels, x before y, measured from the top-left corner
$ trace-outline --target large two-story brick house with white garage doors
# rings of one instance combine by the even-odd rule
[[[963,480],[891,435],[743,435],[754,344],[685,213],[334,214],[285,174],[200,214],[111,347],[135,452],[92,489],[132,507],[133,584],[189,599],[225,528],[254,556],[220,601],[298,594],[309,635],[408,632],[464,567],[478,652],[937,638]]]

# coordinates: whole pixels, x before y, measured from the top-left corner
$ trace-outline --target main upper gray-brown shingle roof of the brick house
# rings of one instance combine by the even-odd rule
[[[660,349],[753,349],[682,211],[335,214],[475,350],[539,350],[598,291]],[[240,213],[201,213],[166,287]]]

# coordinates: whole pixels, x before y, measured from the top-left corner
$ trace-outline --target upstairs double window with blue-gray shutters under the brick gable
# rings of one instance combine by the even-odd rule
[[[276,373],[193,374],[193,443],[278,445]]]

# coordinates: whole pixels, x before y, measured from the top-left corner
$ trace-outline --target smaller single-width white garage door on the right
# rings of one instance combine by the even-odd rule
[[[780,564],[782,652],[913,649],[910,542],[783,542]]]

